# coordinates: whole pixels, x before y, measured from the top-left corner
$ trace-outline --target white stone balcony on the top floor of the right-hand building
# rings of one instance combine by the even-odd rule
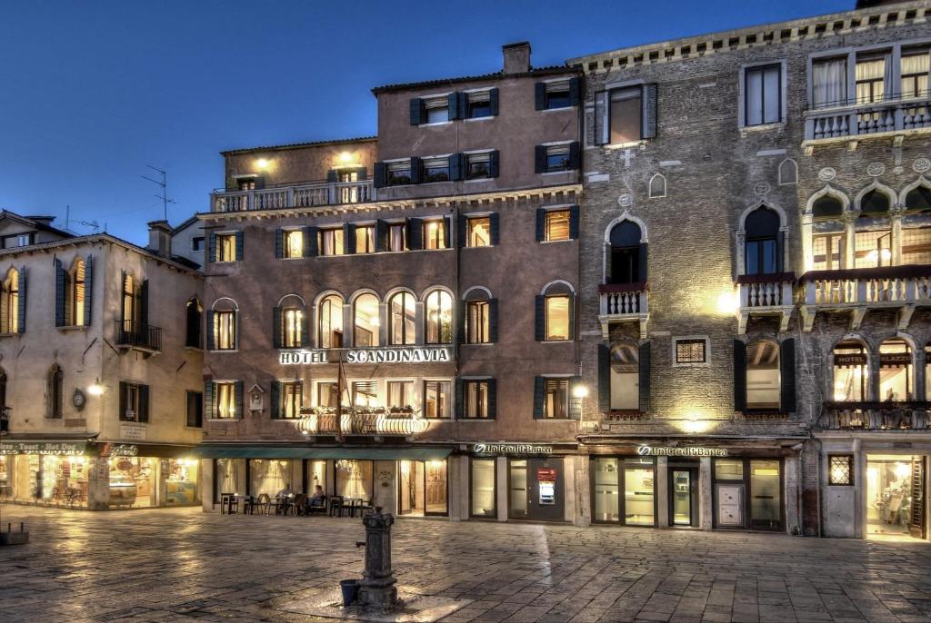
[[[803,118],[806,155],[811,155],[816,144],[844,140],[850,142],[851,150],[862,139],[894,138],[898,145],[907,133],[931,129],[931,95],[819,108],[805,111]]]

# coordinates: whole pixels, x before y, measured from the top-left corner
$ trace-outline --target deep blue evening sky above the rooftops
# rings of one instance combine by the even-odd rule
[[[132,242],[208,209],[218,152],[372,135],[372,86],[495,72],[689,34],[832,13],[854,0],[436,2],[6,0],[0,17],[0,207],[97,220]]]

